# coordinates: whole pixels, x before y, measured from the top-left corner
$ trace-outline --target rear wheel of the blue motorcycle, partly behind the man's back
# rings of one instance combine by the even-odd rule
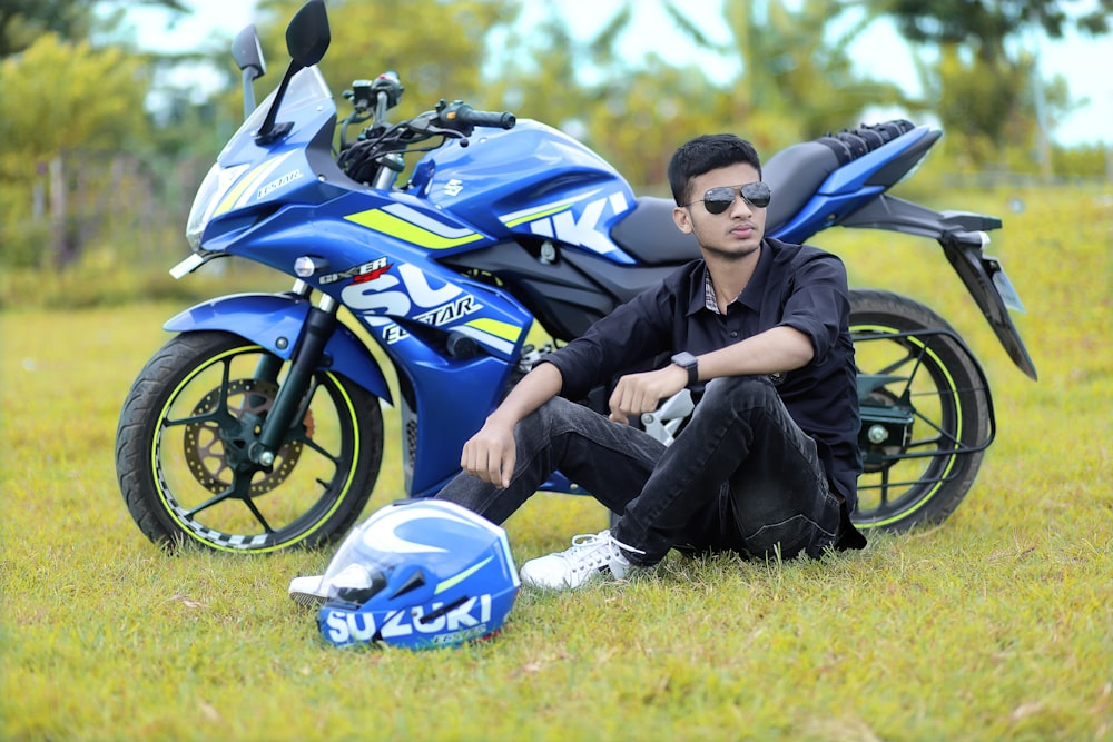
[[[865,466],[851,520],[887,531],[940,523],[993,439],[985,376],[951,326],[907,297],[850,291],[850,333]]]

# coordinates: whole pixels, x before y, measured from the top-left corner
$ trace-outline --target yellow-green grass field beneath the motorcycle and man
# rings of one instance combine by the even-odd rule
[[[951,520],[820,562],[523,591],[461,650],[325,645],[286,586],[328,553],[167,556],[140,534],[116,421],[180,305],[0,314],[0,739],[1113,740],[1113,199],[945,196],[1005,218],[989,253],[1038,382],[927,240],[812,241],[854,285],[935,307],[985,365],[998,437]],[[387,422],[371,507],[402,494]],[[604,524],[549,495],[506,528],[521,563]]]

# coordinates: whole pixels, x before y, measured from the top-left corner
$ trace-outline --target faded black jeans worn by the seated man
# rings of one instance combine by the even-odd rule
[[[840,504],[815,442],[760,376],[708,383],[691,421],[666,447],[642,431],[553,398],[519,423],[508,488],[460,474],[437,495],[502,523],[560,469],[620,514],[612,535],[651,565],[670,548],[785,558],[835,542]]]

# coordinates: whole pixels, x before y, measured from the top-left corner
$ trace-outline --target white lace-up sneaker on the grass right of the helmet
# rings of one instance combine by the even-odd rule
[[[610,531],[580,534],[573,536],[571,548],[523,564],[522,582],[549,590],[575,590],[597,577],[622,580],[634,568],[622,548],[642,553],[617,542]]]

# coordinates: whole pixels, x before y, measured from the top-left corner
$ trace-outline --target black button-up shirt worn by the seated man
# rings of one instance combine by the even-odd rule
[[[749,284],[727,314],[708,308],[707,266],[693,260],[550,354],[563,377],[562,396],[578,399],[593,386],[661,354],[718,350],[778,326],[811,339],[810,363],[770,378],[848,511],[857,504],[858,396],[850,343],[846,268],[815,247],[766,238]]]

